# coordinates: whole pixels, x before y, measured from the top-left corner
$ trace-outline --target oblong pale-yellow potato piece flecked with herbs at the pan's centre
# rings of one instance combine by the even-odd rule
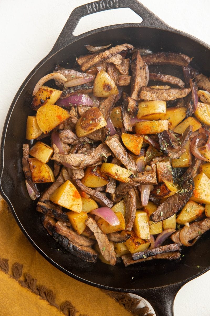
[[[113,163],[104,162],[101,165],[101,172],[105,173],[107,176],[116,179],[118,181],[127,183],[130,181],[131,171],[128,171],[126,168],[122,168],[118,165],[114,165]]]

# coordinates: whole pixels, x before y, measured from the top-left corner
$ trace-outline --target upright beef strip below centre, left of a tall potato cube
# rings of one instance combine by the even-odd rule
[[[125,202],[125,229],[131,231],[136,216],[136,193],[130,189],[124,197]]]

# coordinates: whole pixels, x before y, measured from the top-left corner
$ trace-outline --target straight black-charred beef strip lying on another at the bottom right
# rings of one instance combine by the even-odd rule
[[[172,251],[180,251],[181,247],[178,244],[170,244],[170,245],[166,245],[166,246],[160,246],[160,247],[156,247],[150,250],[145,250],[145,251],[139,251],[136,253],[132,253],[132,258],[133,260],[138,260],[138,259],[142,259],[142,258],[147,258],[150,256],[155,256],[157,254],[160,253],[165,253],[165,252],[172,252]]]

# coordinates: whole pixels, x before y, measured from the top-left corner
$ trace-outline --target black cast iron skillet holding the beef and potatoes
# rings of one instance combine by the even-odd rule
[[[111,25],[75,37],[73,31],[82,16],[107,9],[130,8],[143,21],[138,24]],[[29,198],[22,172],[22,144],[26,142],[26,118],[33,112],[28,106],[37,81],[52,72],[63,61],[72,66],[75,57],[86,54],[85,44],[131,43],[148,47],[154,52],[174,51],[194,56],[204,74],[210,75],[210,47],[200,40],[166,25],[137,0],[102,0],[74,9],[51,52],[31,71],[21,85],[9,108],[1,142],[0,191],[11,212],[37,251],[67,275],[103,289],[135,293],[145,297],[156,315],[173,315],[173,300],[188,281],[210,269],[210,234],[205,234],[193,247],[184,249],[182,260],[156,260],[125,268],[97,262],[86,263],[65,251],[57,251],[58,244],[43,228],[36,201]],[[72,64],[72,65],[71,65]],[[197,267],[199,266],[199,268]]]

